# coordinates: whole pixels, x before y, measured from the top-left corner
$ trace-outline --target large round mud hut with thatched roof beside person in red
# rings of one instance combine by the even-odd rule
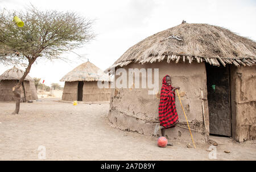
[[[180,87],[195,140],[208,140],[209,134],[255,140],[255,62],[256,43],[225,28],[183,23],[156,33],[128,49],[106,72],[158,68],[159,91],[151,95],[148,88],[113,89],[109,121],[121,130],[160,134],[160,88],[168,74],[172,85]],[[144,78],[139,74],[140,81]],[[171,139],[190,140],[177,96],[176,106],[179,123],[166,134]]]

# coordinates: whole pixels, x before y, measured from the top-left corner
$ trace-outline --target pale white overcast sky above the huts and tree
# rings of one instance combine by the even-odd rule
[[[86,54],[89,61],[102,70],[111,66],[137,42],[154,33],[175,27],[182,20],[228,28],[238,35],[256,41],[256,0],[0,0],[0,8],[18,10],[30,3],[39,10],[76,11],[85,18],[96,19],[93,25],[96,39],[73,51]],[[74,62],[40,61],[32,65],[28,75],[45,80],[46,85],[64,85],[59,80],[86,60],[76,61],[77,55],[74,53],[63,56]],[[0,75],[11,67],[13,66],[0,65]]]

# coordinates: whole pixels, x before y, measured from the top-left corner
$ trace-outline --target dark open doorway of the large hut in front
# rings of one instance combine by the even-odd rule
[[[232,136],[229,66],[205,67],[210,134]]]

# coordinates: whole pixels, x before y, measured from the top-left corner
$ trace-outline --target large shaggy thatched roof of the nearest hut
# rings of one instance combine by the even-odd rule
[[[230,63],[240,67],[256,62],[256,42],[228,29],[209,24],[183,23],[166,29],[129,48],[112,67],[134,63],[207,62],[220,66]],[[110,68],[108,68],[109,71]]]

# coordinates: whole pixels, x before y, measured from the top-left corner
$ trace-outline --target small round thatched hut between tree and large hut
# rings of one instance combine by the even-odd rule
[[[68,72],[60,81],[65,81],[62,100],[85,102],[110,101],[109,75],[89,61]],[[108,82],[108,87],[98,87],[98,81]]]

